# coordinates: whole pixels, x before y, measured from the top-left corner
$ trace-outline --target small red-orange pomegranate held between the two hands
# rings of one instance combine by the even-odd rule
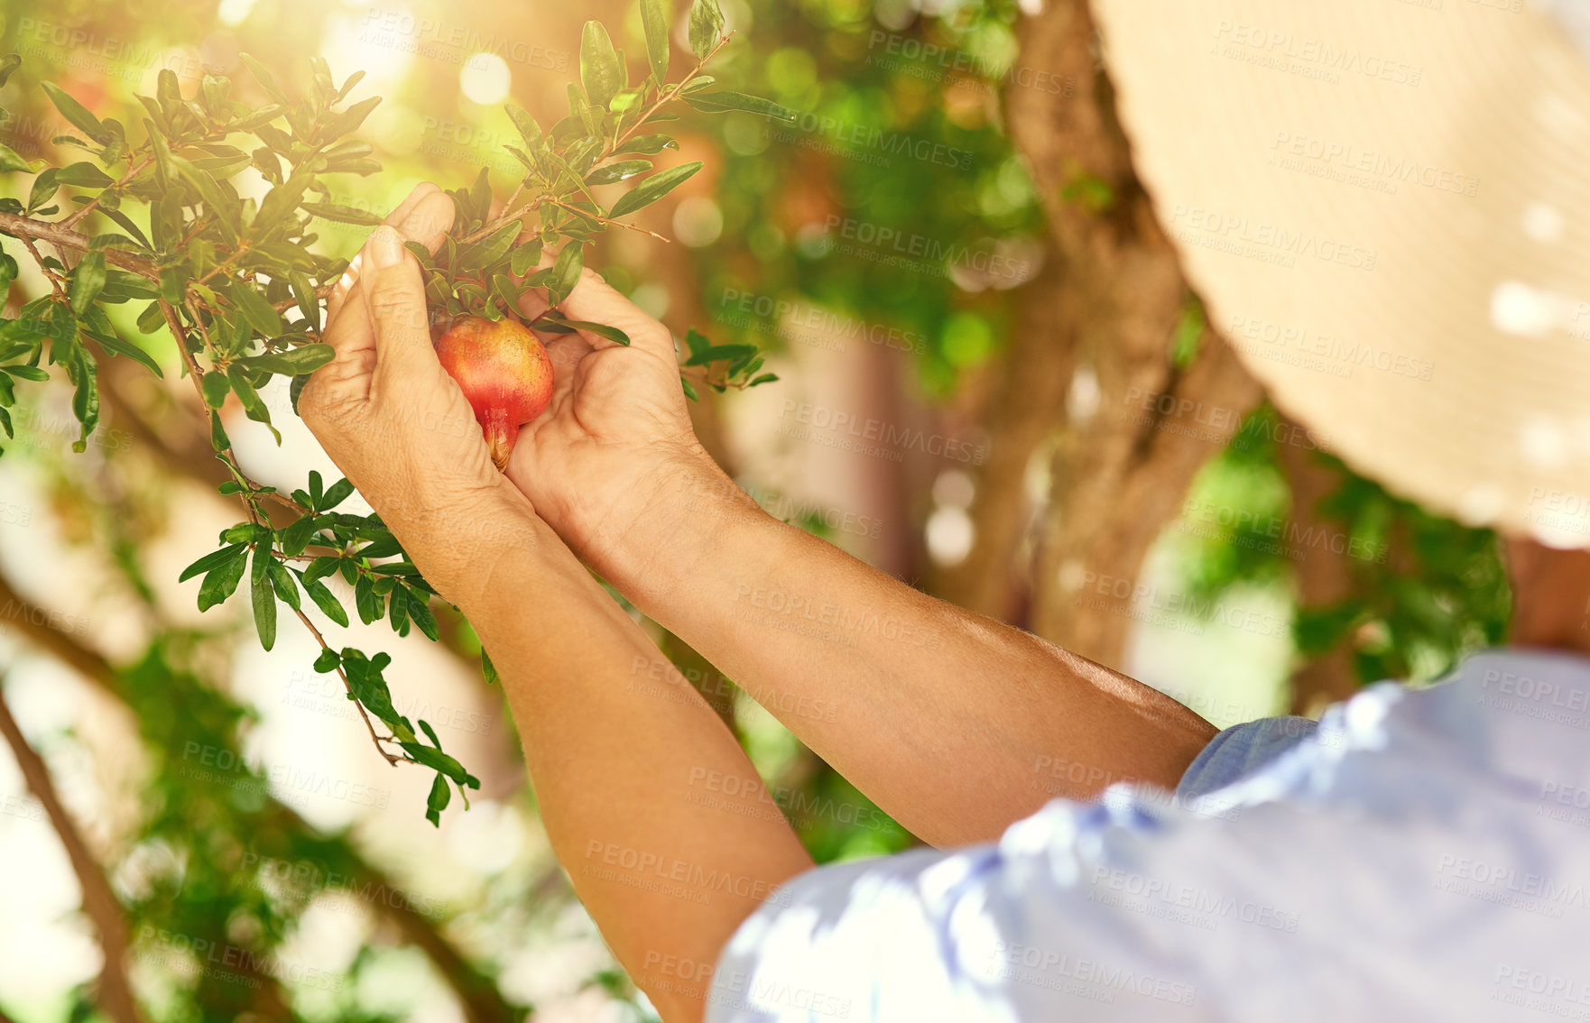
[[[515,319],[461,316],[436,340],[436,356],[475,410],[491,464],[504,470],[518,427],[552,402],[547,349]]]

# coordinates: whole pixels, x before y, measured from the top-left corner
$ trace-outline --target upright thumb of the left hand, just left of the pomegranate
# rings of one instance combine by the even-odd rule
[[[402,245],[402,235],[382,224],[364,241],[364,303],[375,334],[372,391],[432,373],[440,364],[431,346],[431,316],[425,305],[420,264]]]

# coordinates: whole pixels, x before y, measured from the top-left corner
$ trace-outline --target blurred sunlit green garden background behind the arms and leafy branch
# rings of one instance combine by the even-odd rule
[[[1029,365],[1019,345],[1034,332],[1061,345],[1043,332],[1073,315],[1053,305],[1072,267],[1061,221],[1075,213],[1081,230],[1108,230],[1135,186],[1035,167],[1008,116],[1016,92],[1073,102],[1097,68],[1045,51],[1034,19],[1003,0],[723,8],[736,38],[719,83],[801,119],[685,111],[677,157],[708,168],[642,218],[674,241],[614,232],[588,262],[677,335],[696,327],[773,353],[779,384],[708,394],[693,410],[708,448],[771,513],[951,599],[968,593],[965,572],[992,573],[1000,613],[1045,634],[1034,607],[1115,572],[1126,596],[1111,591],[1102,613],[1129,620],[1130,640],[1083,653],[1218,724],[1317,712],[1363,681],[1436,678],[1504,637],[1495,535],[1277,440],[1294,434],[1264,403],[1207,445],[1191,483],[1165,483],[1169,516],[1103,510],[1105,529],[1150,516],[1146,553],[1043,570],[1038,524],[1068,484],[1057,451],[1086,442],[1078,423],[1119,399],[1107,373]],[[418,181],[458,187],[482,165],[507,184],[501,145],[515,137],[502,102],[549,122],[577,75],[585,17],[642,52],[625,0],[6,0],[0,11],[5,48],[24,56],[5,98],[16,118],[0,133],[25,156],[51,152],[60,130],[40,81],[103,114],[153,92],[162,67],[191,86],[207,67],[234,73],[240,51],[281,75],[312,52],[339,79],[369,71],[358,95],[385,100],[361,135],[385,170],[334,202],[382,214]],[[321,245],[351,254],[363,234],[326,224]],[[24,275],[8,303],[40,286]],[[1172,375],[1220,345],[1191,294],[1177,308],[1156,356]],[[145,345],[169,384],[169,338]],[[385,637],[410,666],[394,681],[401,708],[450,712],[450,742],[472,743],[461,759],[485,782],[474,810],[431,834],[423,796],[367,762],[345,704],[296,667],[302,650],[253,650],[237,607],[205,620],[188,610],[176,569],[226,518],[208,442],[183,391],[122,369],[105,370],[110,415],[87,453],[70,453],[65,396],[46,388],[17,410],[19,440],[0,465],[0,705],[25,734],[0,753],[0,1012],[27,1023],[650,1018],[550,858],[467,624],[444,615],[440,653]],[[1014,430],[1000,381],[1024,373],[1064,400],[1022,411],[1027,429]],[[285,408],[285,394],[273,400]],[[995,461],[911,440],[849,450],[808,429],[824,410],[1003,457],[1016,500],[989,510]],[[248,457],[246,426],[229,429]],[[286,434],[280,451],[256,438],[256,478],[301,480],[304,462],[329,472],[302,430]],[[991,515],[1014,523],[1008,554],[983,546]],[[1231,607],[1280,626],[1231,627]],[[819,861],[914,843],[731,680],[649,627]],[[116,944],[130,950],[137,1006],[107,990],[100,947]]]

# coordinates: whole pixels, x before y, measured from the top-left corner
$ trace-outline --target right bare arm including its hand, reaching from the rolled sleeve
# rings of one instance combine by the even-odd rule
[[[984,840],[1056,794],[1172,788],[1215,734],[1126,675],[765,515],[695,442],[666,327],[591,273],[566,310],[633,345],[552,343],[558,392],[510,478],[609,583],[916,834]]]

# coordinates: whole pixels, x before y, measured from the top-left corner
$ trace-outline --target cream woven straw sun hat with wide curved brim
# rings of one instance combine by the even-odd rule
[[[1210,321],[1358,472],[1590,546],[1590,0],[1094,0]]]

